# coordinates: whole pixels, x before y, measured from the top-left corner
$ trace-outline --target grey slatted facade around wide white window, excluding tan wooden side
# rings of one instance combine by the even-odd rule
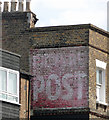
[[[0,113],[2,119],[19,117],[19,59],[16,54],[0,50]]]

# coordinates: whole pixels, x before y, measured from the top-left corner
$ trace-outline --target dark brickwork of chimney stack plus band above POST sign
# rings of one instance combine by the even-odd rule
[[[88,44],[89,25],[30,29],[31,25],[28,21],[28,12],[6,12],[2,15],[2,48],[20,54],[21,69],[27,72],[30,48]]]

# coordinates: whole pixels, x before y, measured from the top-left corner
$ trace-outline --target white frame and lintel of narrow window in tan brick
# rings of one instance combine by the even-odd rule
[[[102,70],[102,84],[96,83],[96,95],[98,96],[96,102],[101,104],[106,104],[106,85],[105,85],[106,66],[107,66],[107,63],[96,59],[96,72],[97,70]],[[97,82],[97,76],[96,76],[96,82]],[[100,90],[101,92],[103,92],[103,94],[101,95],[104,96],[104,99],[102,100],[100,100],[101,98],[103,98],[102,96],[100,97]]]

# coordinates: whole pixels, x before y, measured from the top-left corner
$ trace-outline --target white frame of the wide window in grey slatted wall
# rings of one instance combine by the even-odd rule
[[[8,100],[8,99],[4,99],[4,98],[0,98],[1,101],[6,101],[6,102],[10,102],[10,103],[15,103],[15,104],[19,104],[19,71],[16,70],[12,70],[12,69],[8,69],[5,67],[0,67],[0,70],[4,70],[7,72],[7,85],[6,87],[9,87],[9,73],[14,73],[17,75],[17,95],[14,95],[12,93],[9,93],[8,91],[0,91],[0,93],[4,93],[5,95],[10,95],[10,96],[15,96],[18,98],[18,101],[12,101],[12,100]]]

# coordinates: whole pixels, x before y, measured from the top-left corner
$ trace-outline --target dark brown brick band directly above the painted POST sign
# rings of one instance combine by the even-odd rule
[[[33,47],[65,47],[88,44],[88,25],[30,29]]]

